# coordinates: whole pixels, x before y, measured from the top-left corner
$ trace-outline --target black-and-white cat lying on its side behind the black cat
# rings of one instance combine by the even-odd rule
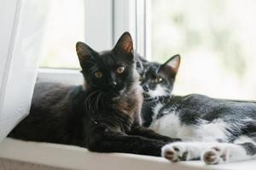
[[[163,65],[142,63],[143,126],[183,140],[166,144],[162,156],[170,161],[201,159],[207,164],[256,158],[255,102],[172,95],[180,56]]]

